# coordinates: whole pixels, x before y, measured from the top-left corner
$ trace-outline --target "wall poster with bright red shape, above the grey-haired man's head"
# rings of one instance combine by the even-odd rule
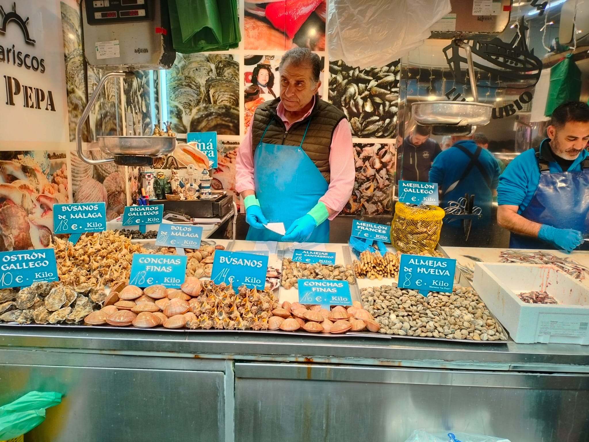
[[[325,0],[253,0],[245,4],[244,48],[325,51]]]

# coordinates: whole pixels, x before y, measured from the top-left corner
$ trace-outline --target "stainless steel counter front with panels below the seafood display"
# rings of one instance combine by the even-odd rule
[[[585,442],[589,348],[0,326],[0,404],[65,394],[31,441]],[[342,438],[343,437],[343,438]]]

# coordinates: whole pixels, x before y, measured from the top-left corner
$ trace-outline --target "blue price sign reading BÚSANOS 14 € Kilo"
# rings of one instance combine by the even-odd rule
[[[266,285],[267,269],[268,256],[266,255],[217,250],[211,279],[216,284],[224,282],[227,285],[233,285],[234,289],[245,285],[250,289],[263,290]]]

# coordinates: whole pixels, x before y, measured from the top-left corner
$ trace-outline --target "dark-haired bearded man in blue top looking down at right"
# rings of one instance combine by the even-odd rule
[[[547,133],[499,177],[497,222],[510,248],[571,252],[589,233],[589,106],[561,104]]]

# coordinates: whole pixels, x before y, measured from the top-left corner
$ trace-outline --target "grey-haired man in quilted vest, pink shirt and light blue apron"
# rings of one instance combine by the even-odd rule
[[[236,189],[250,225],[246,239],[329,242],[329,222],[352,194],[352,134],[341,110],[320,100],[321,61],[286,52],[280,97],[260,104],[237,153]],[[286,235],[266,229],[284,223]]]

